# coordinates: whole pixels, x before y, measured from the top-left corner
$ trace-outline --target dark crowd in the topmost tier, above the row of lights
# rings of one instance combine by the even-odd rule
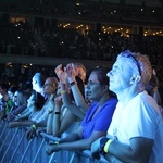
[[[151,4],[150,4],[151,2]],[[64,16],[64,17],[79,17],[89,20],[112,20],[123,21],[124,18],[162,18],[162,15],[158,16],[162,11],[161,1],[139,1],[135,0],[134,3],[129,1],[65,1],[65,0],[33,0],[33,1],[16,1],[9,0],[2,1],[0,10],[18,12],[26,14],[39,14],[41,16]],[[140,9],[146,8],[145,10]],[[156,9],[156,10],[155,10]],[[152,12],[155,10],[154,12]],[[116,12],[114,12],[116,11]],[[96,14],[95,14],[96,12]]]

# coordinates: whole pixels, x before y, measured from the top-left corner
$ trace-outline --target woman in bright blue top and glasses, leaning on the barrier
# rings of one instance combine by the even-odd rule
[[[70,65],[71,66],[71,65]],[[71,67],[70,67],[71,68]],[[91,72],[87,88],[89,98],[93,101],[91,106],[87,105],[87,113],[77,130],[61,139],[57,145],[47,147],[47,154],[60,150],[82,151],[90,149],[91,143],[101,136],[106,135],[117,100],[111,97],[108,90],[109,79],[105,68],[98,68]],[[76,87],[76,82],[71,82],[71,87]],[[64,91],[66,92],[66,90]],[[76,90],[76,97],[82,98]]]

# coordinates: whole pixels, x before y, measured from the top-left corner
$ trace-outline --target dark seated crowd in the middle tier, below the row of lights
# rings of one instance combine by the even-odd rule
[[[5,32],[1,29],[5,28]],[[8,30],[13,32],[14,42]],[[39,27],[32,29],[20,23],[18,26],[0,27],[5,36],[0,40],[0,53],[66,58],[114,62],[116,54],[125,49],[147,54],[156,70],[160,84],[163,84],[162,38],[161,36],[122,36],[121,33],[89,32],[82,35],[75,29]],[[39,41],[35,38],[39,36]],[[20,37],[20,39],[17,39]],[[7,38],[10,38],[7,40]]]

